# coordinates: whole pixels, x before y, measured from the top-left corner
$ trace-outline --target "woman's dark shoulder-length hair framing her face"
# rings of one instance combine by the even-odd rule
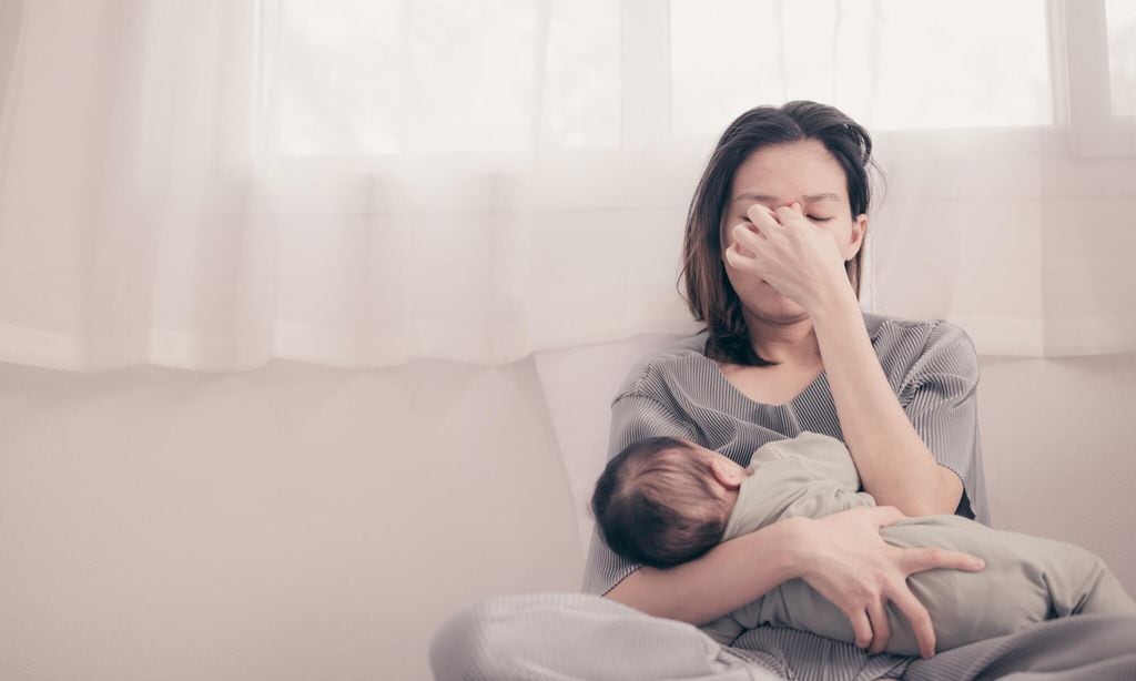
[[[711,359],[758,367],[777,363],[759,356],[750,342],[742,302],[721,261],[721,218],[734,174],[750,154],[765,146],[805,140],[824,144],[844,169],[853,219],[868,212],[871,200],[869,169],[879,170],[871,158],[871,137],[863,126],[838,109],[793,101],[782,107],[750,109],[729,124],[691,200],[679,274],[679,281],[685,283],[683,297],[694,319],[707,325],[705,354]],[[857,297],[860,296],[862,255],[861,247],[844,266]],[[682,287],[679,293],[684,293]]]

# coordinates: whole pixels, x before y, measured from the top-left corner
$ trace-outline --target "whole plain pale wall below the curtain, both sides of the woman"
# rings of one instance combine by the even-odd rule
[[[1136,355],[984,360],[997,526],[1136,592]],[[583,555],[531,361],[240,375],[0,365],[0,678],[427,679]]]

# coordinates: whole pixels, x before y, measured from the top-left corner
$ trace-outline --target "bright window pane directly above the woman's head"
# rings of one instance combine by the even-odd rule
[[[677,134],[754,102],[830,102],[871,129],[1049,125],[1038,0],[671,0]]]

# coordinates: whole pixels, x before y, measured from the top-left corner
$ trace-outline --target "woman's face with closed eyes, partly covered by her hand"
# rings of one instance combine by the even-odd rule
[[[729,203],[722,211],[722,253],[734,243],[733,227],[749,222],[746,210],[754,203],[770,209],[801,204],[805,217],[832,235],[844,257],[860,250],[868,217],[852,217],[847,178],[840,162],[817,140],[765,146],[750,154],[734,174]],[[747,314],[769,320],[792,320],[804,310],[769,284],[726,262],[726,276]]]

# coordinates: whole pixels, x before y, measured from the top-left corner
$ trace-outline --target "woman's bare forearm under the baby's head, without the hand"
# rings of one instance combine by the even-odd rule
[[[799,523],[787,519],[724,541],[669,570],[641,568],[607,592],[650,615],[705,624],[801,575]]]

